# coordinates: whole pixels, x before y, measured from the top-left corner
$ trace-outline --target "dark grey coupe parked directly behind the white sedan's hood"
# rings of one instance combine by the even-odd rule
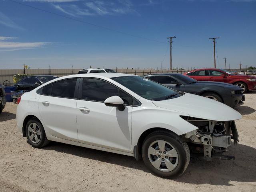
[[[143,77],[168,86],[174,90],[204,96],[230,107],[243,104],[242,89],[228,83],[197,81],[182,74],[148,74]]]

